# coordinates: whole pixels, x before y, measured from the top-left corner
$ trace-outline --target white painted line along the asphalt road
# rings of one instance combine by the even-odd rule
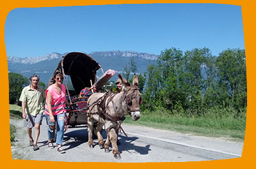
[[[222,153],[222,154],[229,154],[229,155],[237,156],[237,157],[241,158],[241,154],[236,154],[236,153],[232,153],[232,152],[219,151],[219,150],[216,150],[216,149],[207,149],[205,147],[199,147],[197,145],[189,145],[187,143],[180,143],[180,142],[175,142],[175,141],[171,141],[171,140],[166,140],[166,139],[163,139],[163,138],[156,138],[154,136],[139,135],[139,134],[135,134],[135,133],[129,133],[129,132],[126,132],[126,131],[125,131],[125,133],[130,134],[130,135],[143,136],[143,137],[146,137],[146,138],[151,138],[151,139],[159,140],[159,141],[163,141],[163,142],[175,143],[175,144],[178,144],[178,145],[184,145],[184,146],[187,146],[187,147],[193,147],[193,148],[196,148],[196,149],[202,149],[202,150],[205,150],[205,151],[213,151],[213,152],[219,152],[219,153]]]

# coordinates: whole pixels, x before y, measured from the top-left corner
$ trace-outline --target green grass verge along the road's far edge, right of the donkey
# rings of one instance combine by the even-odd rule
[[[166,129],[200,136],[223,137],[237,141],[244,140],[246,118],[230,117],[182,117],[168,114],[143,114],[134,122],[126,117],[125,123]]]

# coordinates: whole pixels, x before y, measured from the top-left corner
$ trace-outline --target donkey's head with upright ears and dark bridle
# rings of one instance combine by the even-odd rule
[[[124,101],[127,105],[127,112],[132,117],[132,121],[137,121],[140,119],[140,104],[142,103],[141,93],[138,90],[139,80],[138,76],[135,75],[132,80],[132,85],[127,82],[120,74],[118,77],[122,81],[122,85],[125,87],[125,97]]]

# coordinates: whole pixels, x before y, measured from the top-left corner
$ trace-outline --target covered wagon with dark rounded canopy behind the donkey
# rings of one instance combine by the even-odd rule
[[[65,131],[68,128],[86,126],[86,107],[89,95],[81,97],[80,92],[83,89],[94,92],[93,84],[97,80],[96,73],[100,68],[100,64],[93,57],[82,52],[70,52],[63,55],[60,60],[54,73],[61,71],[63,74],[67,99],[71,104],[71,107],[67,108]],[[53,83],[54,73],[48,86]],[[102,73],[104,73],[103,70]]]

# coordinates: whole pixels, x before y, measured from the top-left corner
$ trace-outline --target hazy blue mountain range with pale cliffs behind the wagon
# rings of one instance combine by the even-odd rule
[[[65,53],[67,54],[67,53]],[[14,73],[20,73],[24,77],[30,77],[33,73],[40,76],[40,81],[45,84],[48,83],[49,78],[58,66],[58,62],[65,54],[59,54],[52,52],[42,57],[12,57],[8,56],[8,71]],[[157,55],[147,54],[143,52],[132,51],[106,51],[106,52],[92,52],[88,54],[92,56],[102,66],[104,71],[111,69],[117,73],[122,73],[125,66],[129,66],[131,57],[133,57],[138,68],[138,73],[147,71],[148,64],[156,64]],[[100,77],[102,71],[99,70],[97,76]],[[117,76],[111,78],[116,80]]]

